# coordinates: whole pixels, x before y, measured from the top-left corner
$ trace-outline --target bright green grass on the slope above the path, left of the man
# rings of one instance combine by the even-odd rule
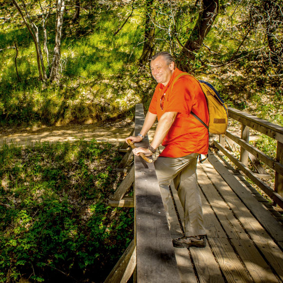
[[[38,82],[35,49],[27,31],[17,22],[7,24],[9,28],[6,27],[0,38],[3,47],[13,46],[14,40],[18,42],[20,81],[15,69],[15,49],[0,52],[0,60],[5,61],[0,71],[0,124],[3,127],[40,126],[100,121],[125,115],[140,102],[142,96],[136,93],[137,77],[132,78],[134,66],[131,64],[140,56],[142,46],[134,47],[142,30],[132,29],[132,22],[138,24],[142,19],[133,16],[113,37],[121,9],[102,10],[95,19],[82,11],[75,25],[70,19],[64,19],[59,86]],[[52,37],[50,33],[50,52]],[[124,103],[125,97],[133,92],[133,99]]]

